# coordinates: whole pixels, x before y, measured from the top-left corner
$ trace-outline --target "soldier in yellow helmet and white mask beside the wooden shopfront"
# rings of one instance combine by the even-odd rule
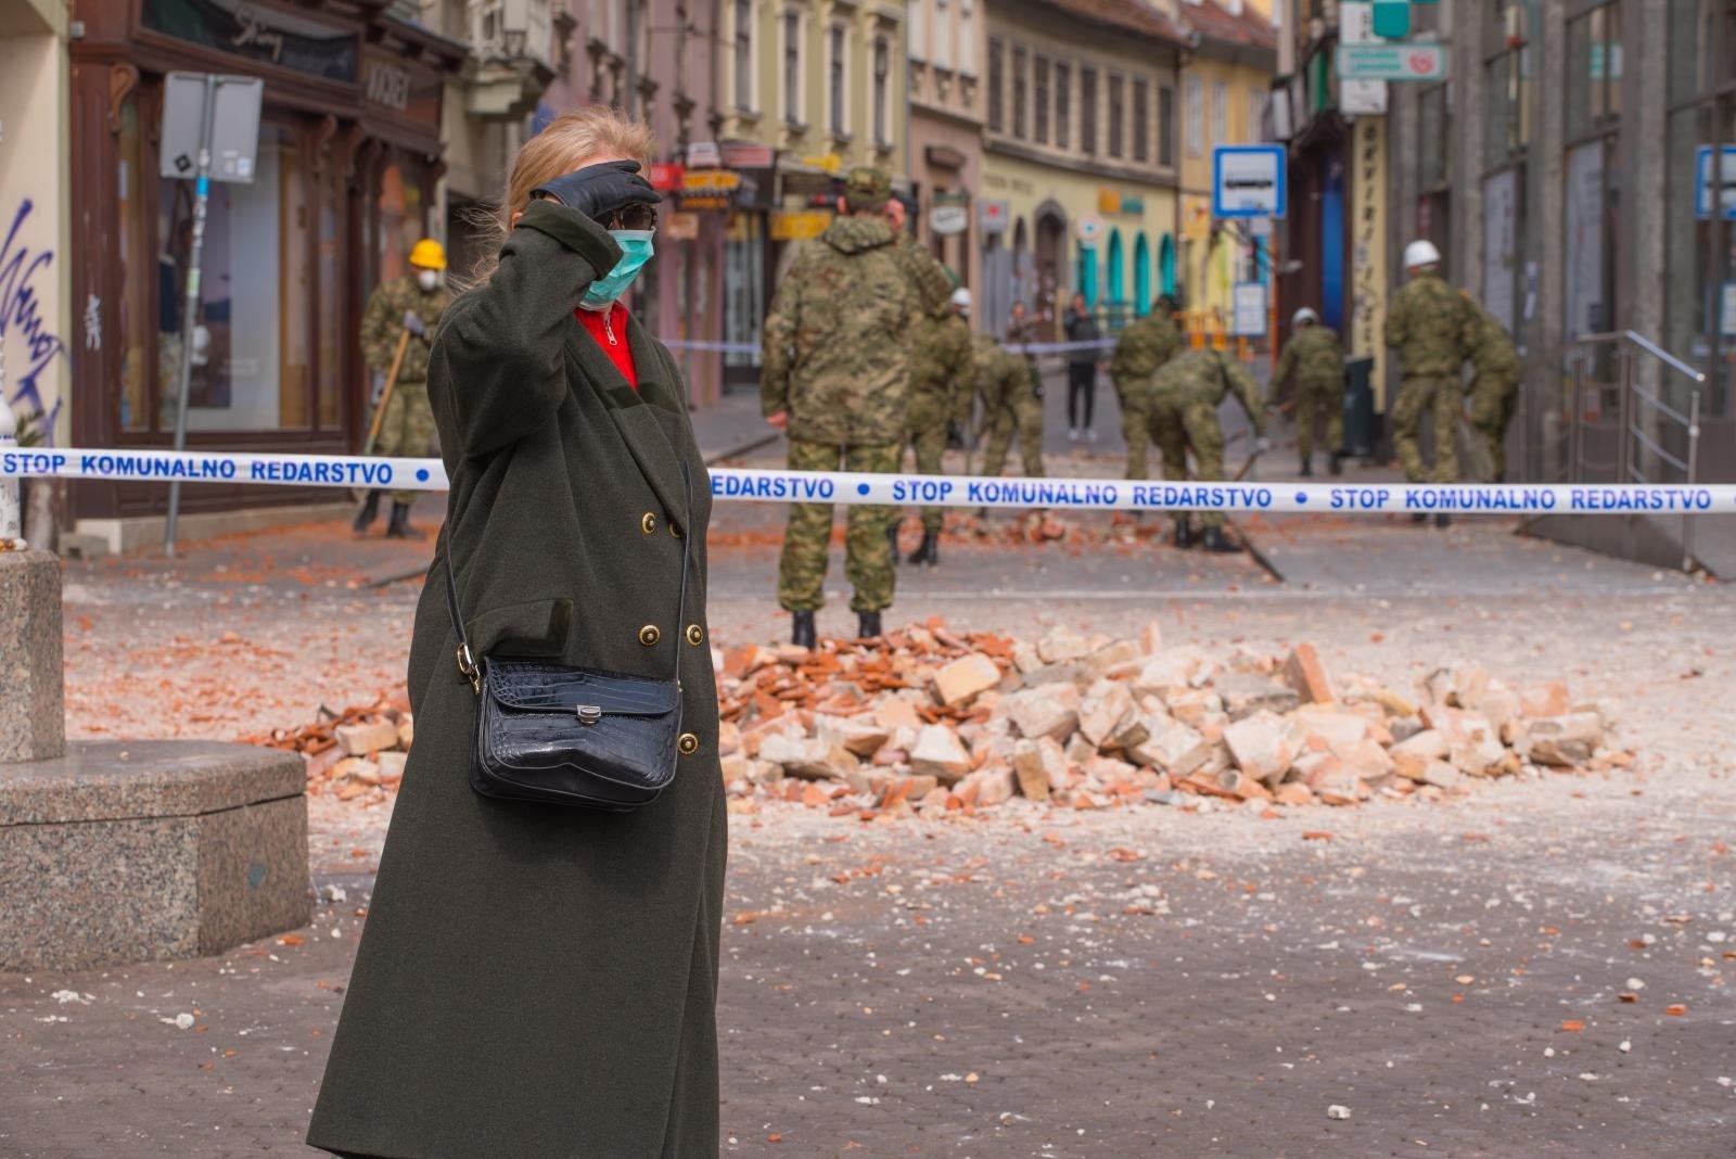
[[[368,297],[361,316],[361,356],[368,370],[384,383],[392,370],[398,338],[410,331],[404,361],[398,368],[392,396],[385,399],[385,418],[373,453],[385,458],[415,458],[429,453],[434,437],[434,411],[429,409],[429,347],[441,314],[451,305],[446,290],[446,252],[441,243],[424,238],[410,252],[413,274],[380,283]],[[410,526],[410,505],[415,491],[392,491],[392,517],[385,526],[387,538],[403,540],[415,531]],[[368,498],[356,515],[356,534],[366,534],[380,512],[380,493]]]

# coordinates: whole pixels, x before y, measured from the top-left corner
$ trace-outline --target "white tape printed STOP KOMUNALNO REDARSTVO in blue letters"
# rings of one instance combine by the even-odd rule
[[[1210,510],[1330,514],[1736,514],[1736,484],[1328,484],[1134,482],[1127,479],[988,479],[981,475],[866,475],[719,467],[719,500],[882,507],[1054,507],[1075,510]],[[109,479],[444,491],[437,458],[273,455],[75,448],[0,451],[0,479]]]

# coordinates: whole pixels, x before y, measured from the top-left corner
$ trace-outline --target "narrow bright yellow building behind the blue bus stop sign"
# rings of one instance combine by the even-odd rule
[[[1180,0],[1198,36],[1182,64],[1180,288],[1189,311],[1227,319],[1238,281],[1267,281],[1267,239],[1212,217],[1212,149],[1266,141],[1278,33],[1255,0]]]

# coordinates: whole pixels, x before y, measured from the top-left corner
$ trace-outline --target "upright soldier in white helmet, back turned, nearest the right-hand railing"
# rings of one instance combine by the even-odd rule
[[[1399,352],[1399,397],[1392,406],[1392,448],[1410,482],[1458,479],[1458,370],[1465,361],[1470,304],[1453,293],[1439,272],[1441,252],[1429,241],[1404,246],[1410,281],[1387,307],[1385,340]],[[1422,460],[1417,429],[1424,413],[1434,423],[1434,472]],[[1427,515],[1411,515],[1424,522]],[[1436,517],[1448,526],[1446,514]]]

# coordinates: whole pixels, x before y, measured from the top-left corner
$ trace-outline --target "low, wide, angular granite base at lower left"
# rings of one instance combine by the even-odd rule
[[[304,777],[293,753],[210,741],[0,765],[0,970],[220,954],[307,925]]]

